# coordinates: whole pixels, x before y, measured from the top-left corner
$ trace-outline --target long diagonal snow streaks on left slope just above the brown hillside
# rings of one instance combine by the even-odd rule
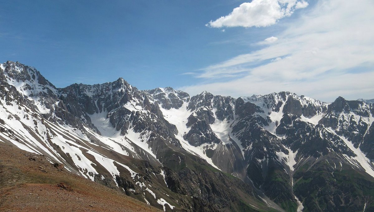
[[[74,165],[78,168],[78,172],[82,176],[85,176],[91,180],[94,179],[94,174],[98,173],[93,167],[98,165],[97,163],[100,163],[105,169],[107,169],[108,172],[113,176],[113,179],[115,179],[115,175],[119,175],[119,171],[114,163],[128,169],[132,177],[136,175],[136,173],[129,169],[128,166],[115,162],[114,160],[109,159],[98,153],[96,150],[90,148],[86,144],[87,141],[84,140],[86,136],[83,135],[80,130],[67,127],[65,125],[65,127],[61,127],[60,125],[56,125],[47,120],[44,120],[42,123],[40,120],[34,119],[31,114],[27,114],[27,112],[24,110],[18,109],[18,106],[15,106],[16,102],[13,103],[13,105],[6,105],[6,109],[1,107],[0,116],[2,117],[9,114],[18,114],[17,116],[19,118],[7,120],[4,126],[7,129],[11,129],[13,132],[15,132],[12,133],[12,136],[16,136],[18,140],[15,141],[14,139],[9,138],[7,136],[9,135],[8,133],[2,133],[1,137],[9,140],[19,148],[39,154],[48,154],[55,160],[55,162],[63,161],[65,164],[67,164],[65,159],[60,156],[61,153],[57,152],[56,149],[51,146],[51,143],[53,143],[57,145],[62,153],[67,154],[71,158]],[[28,117],[26,115],[28,115]],[[25,128],[26,126],[30,127],[30,129]],[[51,143],[47,141],[47,136],[49,136]],[[112,141],[111,145],[113,145],[113,143],[114,142]],[[117,148],[124,153],[122,148]],[[86,154],[90,154],[95,157],[97,163],[89,160]],[[73,171],[73,169],[70,167],[65,167],[68,170]]]

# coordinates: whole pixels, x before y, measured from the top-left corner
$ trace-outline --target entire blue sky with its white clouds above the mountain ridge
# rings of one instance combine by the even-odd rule
[[[373,0],[2,1],[0,62],[56,87],[373,99],[373,23]]]

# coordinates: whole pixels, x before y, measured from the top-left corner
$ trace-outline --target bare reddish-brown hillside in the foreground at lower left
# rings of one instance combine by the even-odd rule
[[[159,211],[60,168],[0,142],[0,211]]]

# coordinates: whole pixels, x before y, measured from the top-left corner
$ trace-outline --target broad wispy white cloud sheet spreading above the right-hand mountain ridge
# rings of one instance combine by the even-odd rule
[[[319,0],[272,45],[203,68],[196,77],[209,83],[180,89],[236,97],[288,90],[324,101],[339,95],[372,99],[372,11],[371,0]]]

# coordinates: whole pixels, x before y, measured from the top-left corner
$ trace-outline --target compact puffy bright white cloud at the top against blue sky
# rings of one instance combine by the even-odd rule
[[[240,4],[227,16],[210,21],[208,27],[267,27],[308,6],[304,0],[253,0]]]

